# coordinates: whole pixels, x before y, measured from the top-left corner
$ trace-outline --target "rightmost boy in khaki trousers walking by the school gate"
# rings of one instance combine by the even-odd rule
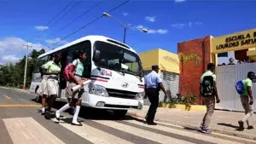
[[[253,116],[253,93],[252,93],[252,87],[253,87],[253,77],[254,72],[248,72],[247,78],[242,80],[243,85],[243,93],[240,96],[241,98],[241,105],[245,110],[245,116],[238,121],[239,124],[239,130],[244,130],[244,123],[247,122],[247,129],[251,130],[253,129],[253,125],[251,123],[250,118]]]

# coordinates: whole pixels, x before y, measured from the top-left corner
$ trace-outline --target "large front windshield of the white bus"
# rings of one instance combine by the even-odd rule
[[[96,66],[143,77],[141,61],[136,53],[101,41],[96,41],[94,50],[101,52],[101,60],[95,62]]]

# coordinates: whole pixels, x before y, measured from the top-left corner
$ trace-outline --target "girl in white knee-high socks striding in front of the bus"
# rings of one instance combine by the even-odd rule
[[[69,71],[69,77],[72,79],[72,81],[67,85],[67,89],[66,89],[66,92],[67,92],[66,95],[68,97],[71,97],[71,101],[69,101],[69,103],[67,103],[65,106],[61,107],[60,110],[55,112],[55,118],[57,120],[60,120],[61,112],[66,111],[69,107],[75,107],[76,105],[72,124],[82,126],[83,124],[78,122],[78,117],[79,117],[80,107],[82,104],[81,98],[82,98],[82,95],[84,94],[83,82],[87,80],[86,78],[82,78],[84,73],[83,62],[86,60],[86,52],[84,50],[79,50],[78,55],[79,55],[79,59],[73,60],[73,63],[72,63],[73,66]],[[73,69],[75,67],[76,67],[76,72],[74,72],[74,75],[73,75]],[[75,92],[72,92],[71,89],[78,84],[81,85],[81,89]]]

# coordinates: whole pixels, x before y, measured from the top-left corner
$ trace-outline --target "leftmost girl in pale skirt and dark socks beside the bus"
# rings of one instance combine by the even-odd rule
[[[47,78],[47,91],[49,94],[49,101],[48,101],[48,107],[44,114],[44,118],[49,119],[49,113],[51,110],[51,107],[53,107],[53,103],[55,102],[55,99],[57,98],[57,95],[59,93],[59,73],[61,72],[61,66],[60,66],[60,55],[55,54],[54,60],[49,61],[44,66],[44,71],[49,76]]]

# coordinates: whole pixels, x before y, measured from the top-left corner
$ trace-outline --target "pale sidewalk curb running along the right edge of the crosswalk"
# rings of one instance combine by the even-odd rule
[[[127,115],[129,115],[131,117],[132,116],[137,117],[137,118],[144,118],[145,117],[145,116],[142,116],[141,114],[137,114],[137,112],[129,112],[129,111],[127,112]],[[183,122],[166,120],[166,119],[161,119],[161,118],[154,118],[154,120],[162,122],[162,123],[179,125],[179,126],[189,128],[189,129],[195,129],[195,130],[199,129],[199,126],[195,125],[195,124],[187,124],[187,123],[183,123]],[[210,129],[212,130],[212,132],[216,132],[216,133],[219,133],[219,134],[231,135],[231,136],[236,136],[236,137],[241,137],[241,138],[256,141],[256,135],[242,134],[242,133],[234,132],[234,131],[230,131],[230,130],[218,130],[218,129],[212,128],[212,127]]]

